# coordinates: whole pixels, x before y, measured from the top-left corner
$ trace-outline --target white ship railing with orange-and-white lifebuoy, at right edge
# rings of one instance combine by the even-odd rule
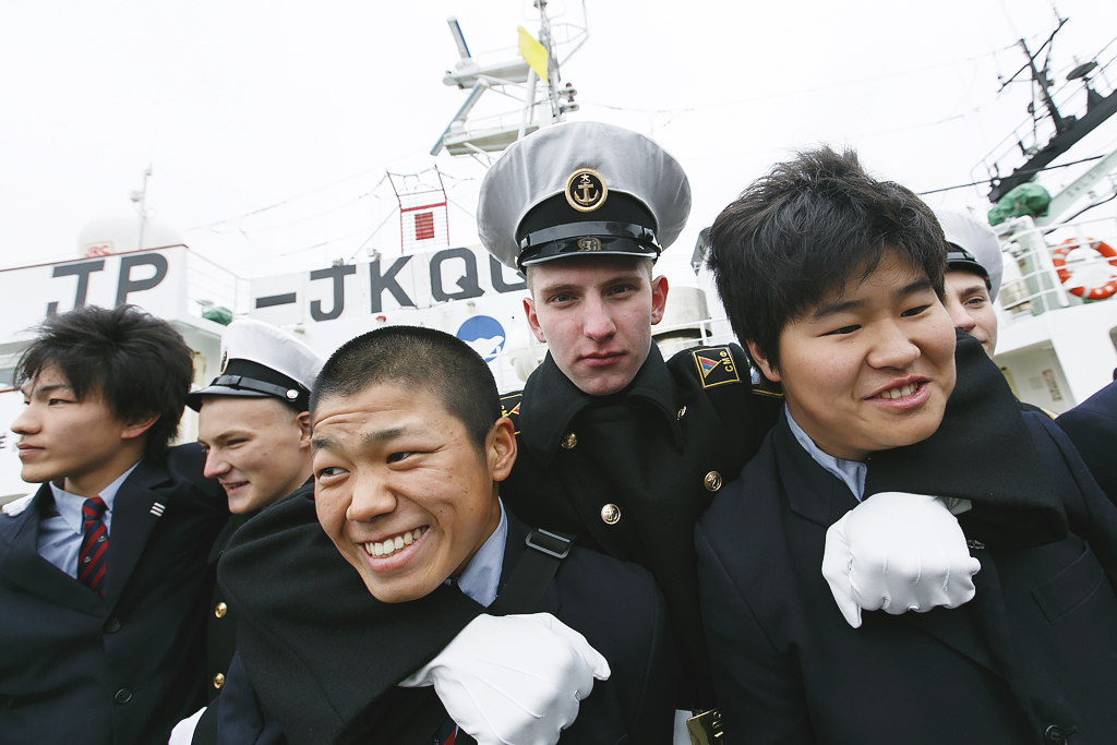
[[[1043,227],[1023,217],[999,228],[1005,254],[997,297],[1001,323],[1082,305],[1090,300],[1071,290],[1117,280],[1117,258],[1098,246],[1117,247],[1115,228],[1113,217]]]

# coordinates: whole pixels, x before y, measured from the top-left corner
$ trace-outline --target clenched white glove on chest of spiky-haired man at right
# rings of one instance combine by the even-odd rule
[[[952,514],[968,508],[967,499],[882,491],[831,525],[822,576],[846,621],[859,628],[861,609],[899,615],[971,601],[981,562]]]

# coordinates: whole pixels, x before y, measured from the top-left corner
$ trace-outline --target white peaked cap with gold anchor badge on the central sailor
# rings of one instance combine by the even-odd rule
[[[512,268],[585,252],[657,258],[689,213],[687,174],[655,141],[561,122],[513,143],[485,174],[477,233]]]

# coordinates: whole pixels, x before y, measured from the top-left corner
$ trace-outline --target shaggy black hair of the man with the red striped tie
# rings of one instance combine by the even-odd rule
[[[99,394],[122,422],[157,414],[144,456],[165,457],[193,380],[190,347],[171,324],[134,305],[88,305],[50,316],[35,332],[16,364],[16,385],[55,365],[78,401]]]

